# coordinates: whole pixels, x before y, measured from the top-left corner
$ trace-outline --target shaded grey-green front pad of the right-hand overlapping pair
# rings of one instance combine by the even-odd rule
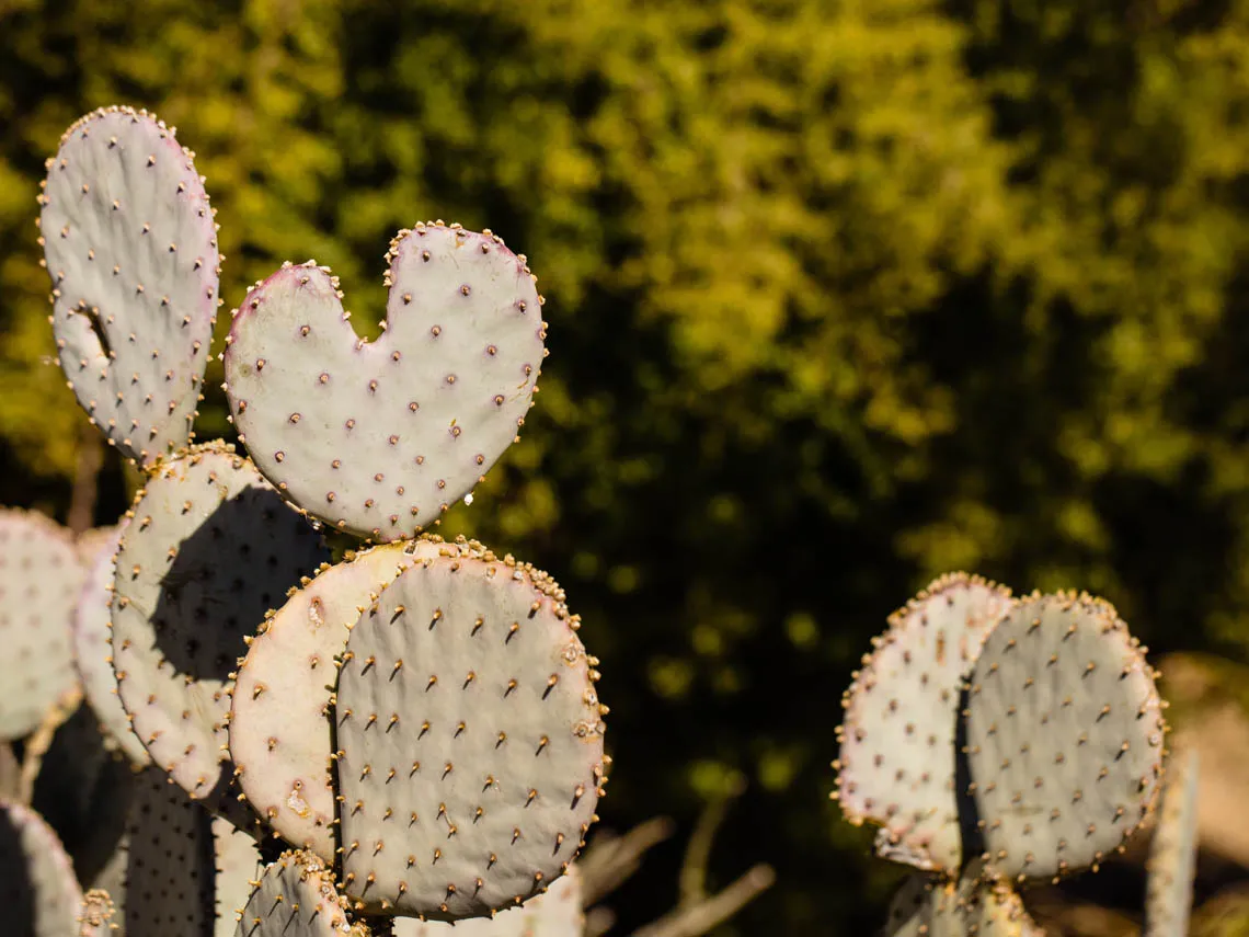
[[[985,855],[1005,877],[1097,866],[1153,807],[1163,718],[1127,625],[1087,595],[1033,595],[984,642],[967,758]]]

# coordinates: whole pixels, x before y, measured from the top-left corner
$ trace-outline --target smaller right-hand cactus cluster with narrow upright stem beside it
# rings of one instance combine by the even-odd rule
[[[1154,820],[1164,773],[1157,673],[1085,593],[938,578],[889,618],[843,697],[833,798],[918,871],[884,933],[1043,933],[1017,891],[1098,866]],[[1170,763],[1173,760],[1168,760]],[[1167,783],[1149,933],[1185,933],[1195,768]]]

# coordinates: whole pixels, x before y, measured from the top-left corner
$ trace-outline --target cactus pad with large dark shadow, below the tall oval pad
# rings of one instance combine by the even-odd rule
[[[161,462],[115,561],[112,666],[144,747],[195,798],[220,802],[226,692],[245,636],[328,558],[320,536],[229,446]]]

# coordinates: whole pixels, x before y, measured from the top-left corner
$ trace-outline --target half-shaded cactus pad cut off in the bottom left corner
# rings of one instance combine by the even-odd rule
[[[42,817],[20,803],[0,802],[0,902],[6,935],[77,933],[82,892],[70,857]]]

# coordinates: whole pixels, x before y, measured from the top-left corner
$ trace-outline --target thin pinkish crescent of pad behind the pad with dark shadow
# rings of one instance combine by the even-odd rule
[[[74,663],[77,667],[86,701],[95,712],[105,736],[139,767],[150,761],[139,736],[130,727],[117,697],[117,676],[112,671],[112,648],[109,646],[109,618],[112,603],[112,555],[117,550],[121,527],[110,528],[109,536],[95,543],[95,553],[84,552],[87,561],[86,581],[74,607]],[[80,543],[81,551],[81,543]]]

